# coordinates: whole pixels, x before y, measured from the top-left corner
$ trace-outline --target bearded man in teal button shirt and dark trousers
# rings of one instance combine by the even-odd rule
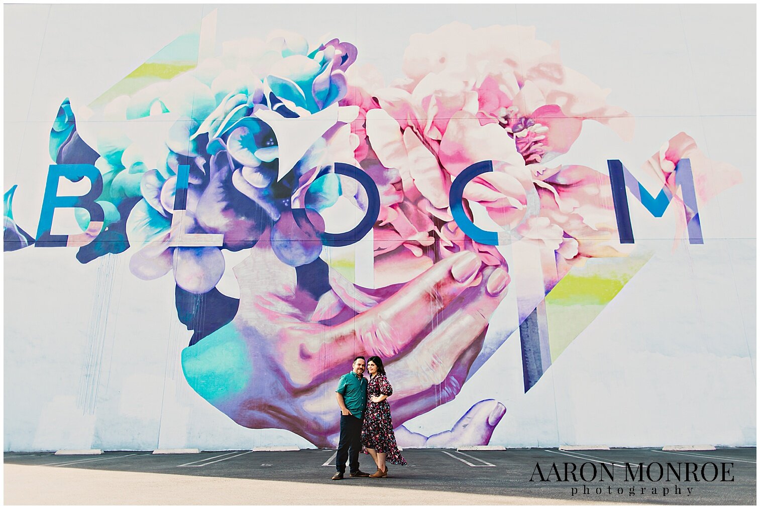
[[[351,477],[369,477],[359,470],[359,451],[362,450],[362,419],[367,406],[367,379],[363,377],[366,362],[364,357],[353,359],[353,370],[340,377],[335,390],[335,398],[340,406],[340,441],[337,446],[335,465],[337,473],[334,481],[343,479],[346,460],[349,460]]]

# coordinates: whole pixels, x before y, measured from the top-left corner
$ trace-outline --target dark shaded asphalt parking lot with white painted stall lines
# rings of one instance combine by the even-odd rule
[[[477,495],[542,498],[558,504],[754,505],[756,501],[755,447],[679,452],[661,451],[655,447],[610,451],[531,448],[460,452],[453,449],[407,449],[403,454],[409,466],[389,465],[388,477],[385,479],[346,476],[342,481],[332,481],[330,478],[335,471],[334,451],[325,449],[295,452],[215,451],[200,454],[109,451],[96,456],[5,453],[5,487],[7,494],[8,466],[34,466],[39,467],[33,470],[34,476],[41,477],[55,469],[77,469],[107,471],[112,474],[112,479],[119,479],[119,473],[258,479],[299,483],[306,494],[309,493],[310,486],[328,492],[340,492],[337,484],[367,488],[382,486],[473,495],[473,503],[477,503],[474,498]],[[368,473],[375,471],[369,456],[360,455],[359,461],[361,469]],[[670,470],[668,463],[672,468]],[[556,470],[552,468],[553,464]],[[664,469],[664,474],[657,480],[660,466]],[[677,475],[680,480],[676,477],[676,469],[679,469]],[[688,476],[686,470],[689,470]],[[31,472],[29,469],[26,471]],[[82,476],[86,472],[77,474]],[[716,479],[711,480],[714,476]],[[533,480],[530,480],[531,477]],[[161,476],[152,476],[151,479],[159,479],[156,482],[160,482]],[[153,487],[156,488],[155,485]],[[6,503],[14,502],[7,497],[8,495]],[[39,502],[39,499],[36,500]],[[458,500],[464,498],[459,497]],[[51,500],[50,503],[56,502]],[[129,501],[122,500],[122,503],[128,504]],[[308,496],[300,503],[309,504]],[[410,499],[408,503],[420,502]]]

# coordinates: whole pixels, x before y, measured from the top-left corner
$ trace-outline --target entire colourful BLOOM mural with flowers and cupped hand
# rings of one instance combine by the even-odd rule
[[[674,246],[701,244],[698,204],[742,182],[686,132],[640,168],[555,163],[588,125],[630,141],[636,121],[533,27],[416,34],[385,86],[342,38],[274,32],[204,55],[215,23],[89,105],[62,90],[36,235],[6,181],[4,249],[173,277],[186,383],[246,428],[334,445],[337,380],[378,355],[400,444],[488,444],[507,411],[489,398],[438,435],[404,423],[458,397],[515,332],[530,391],[653,256],[635,203],[674,210]],[[79,232],[55,232],[64,208]],[[510,294],[517,320],[490,330]]]

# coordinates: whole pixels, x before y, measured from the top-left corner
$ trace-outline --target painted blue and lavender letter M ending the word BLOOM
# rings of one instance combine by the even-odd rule
[[[613,202],[615,204],[615,216],[618,223],[618,232],[621,244],[633,244],[633,229],[631,227],[631,214],[628,208],[628,194],[625,188],[641,202],[654,217],[663,217],[665,209],[673,200],[673,194],[667,186],[660,189],[660,193],[653,197],[644,189],[635,176],[619,160],[607,160],[610,169],[610,186],[613,190]],[[697,209],[697,197],[694,191],[694,176],[692,175],[692,163],[688,159],[682,159],[676,164],[676,188],[681,188],[683,208],[686,213],[686,225],[689,230],[689,243],[704,244],[702,229],[699,224],[699,210]]]

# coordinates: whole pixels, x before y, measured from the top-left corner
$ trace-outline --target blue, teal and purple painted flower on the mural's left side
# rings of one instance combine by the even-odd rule
[[[51,131],[51,156],[59,163],[72,154],[91,156],[78,162],[100,169],[100,203],[108,209],[106,219],[113,209],[123,243],[136,248],[130,267],[138,277],[154,279],[172,270],[182,289],[207,292],[225,268],[221,249],[250,248],[267,229],[273,238],[302,240],[280,249],[283,261],[309,263],[321,252],[321,242],[314,242],[324,232],[318,212],[344,191],[332,164],[356,163],[359,139],[346,137],[352,136],[358,108],[337,105],[347,93],[344,74],[355,60],[356,48],[348,43],[334,39],[309,47],[292,33],[225,43],[218,58],[197,68],[116,97],[97,114],[82,109],[90,122],[81,133],[66,100]],[[321,112],[321,124],[312,122]],[[152,120],[157,122],[146,130]],[[296,154],[289,159],[280,157],[273,121],[278,128],[285,121],[323,127],[305,145],[286,129],[285,151]],[[180,166],[188,166],[189,175],[178,215]],[[361,193],[347,198],[366,207]],[[290,212],[293,201],[306,208],[306,224]],[[223,243],[172,245],[181,234],[196,233],[221,235]]]

